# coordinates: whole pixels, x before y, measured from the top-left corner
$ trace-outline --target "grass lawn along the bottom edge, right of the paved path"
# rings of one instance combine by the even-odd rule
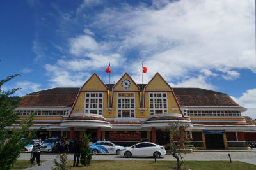
[[[72,167],[73,161],[68,161],[68,167],[72,170],[76,169],[109,169],[109,170],[132,170],[132,169],[170,169],[175,167],[175,161],[96,161],[93,160],[90,166],[79,166]],[[228,162],[228,161],[186,161],[183,166],[188,167],[193,170],[207,170],[207,169],[256,169],[256,166],[253,164],[248,164],[244,162]]]

